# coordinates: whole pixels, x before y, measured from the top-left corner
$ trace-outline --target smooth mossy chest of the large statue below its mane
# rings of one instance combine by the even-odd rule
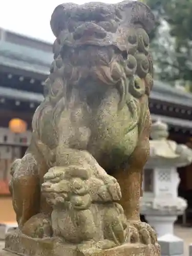
[[[94,108],[75,98],[61,114],[59,146],[88,150],[96,158],[105,153],[130,156],[138,139],[138,116],[133,116],[126,104],[119,110],[119,101],[116,89],[109,91]]]

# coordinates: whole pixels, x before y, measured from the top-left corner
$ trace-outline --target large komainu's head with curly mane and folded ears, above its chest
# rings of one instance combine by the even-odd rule
[[[153,25],[153,14],[140,2],[57,6],[51,17],[54,61],[45,87],[53,104],[87,79],[117,87],[120,108],[129,94],[148,95],[153,65],[147,33]]]

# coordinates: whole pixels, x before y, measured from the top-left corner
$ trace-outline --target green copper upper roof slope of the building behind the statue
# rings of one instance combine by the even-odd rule
[[[28,71],[46,77],[49,75],[52,61],[52,52],[9,41],[0,41],[0,66],[20,70],[20,75],[24,75],[24,71]],[[154,81],[150,98],[192,107],[192,94],[182,92],[161,81]]]

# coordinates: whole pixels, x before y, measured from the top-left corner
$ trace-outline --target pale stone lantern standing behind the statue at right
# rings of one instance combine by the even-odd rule
[[[144,168],[140,212],[158,237],[173,234],[174,222],[183,215],[187,202],[178,197],[178,167],[192,162],[192,150],[167,140],[168,126],[160,120],[152,124],[150,158]]]

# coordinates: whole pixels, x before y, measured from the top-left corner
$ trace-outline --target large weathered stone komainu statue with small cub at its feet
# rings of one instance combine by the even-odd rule
[[[153,86],[147,33],[153,25],[153,14],[140,2],[54,10],[45,100],[33,117],[31,144],[11,169],[23,234],[62,237],[81,250],[90,243],[156,244],[153,229],[139,218]]]

